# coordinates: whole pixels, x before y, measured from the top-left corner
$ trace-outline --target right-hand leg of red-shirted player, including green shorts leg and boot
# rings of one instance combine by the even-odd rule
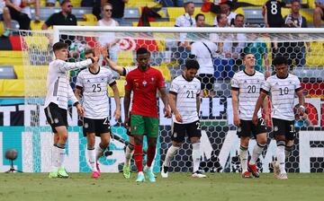
[[[158,135],[158,118],[144,117],[145,131],[148,139],[148,160],[144,172],[146,173],[150,182],[155,182],[155,175],[151,169],[157,149],[157,135]]]

